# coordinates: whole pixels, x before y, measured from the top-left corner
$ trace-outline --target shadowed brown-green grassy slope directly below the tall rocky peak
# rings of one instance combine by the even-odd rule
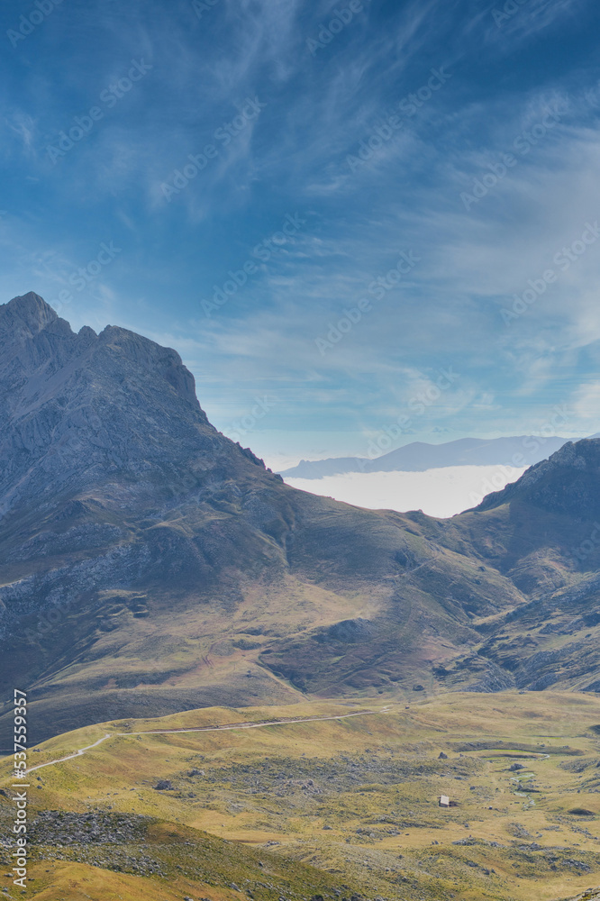
[[[474,617],[526,600],[468,542],[467,556],[441,547],[442,523],[426,519],[423,537],[414,518],[306,495],[225,450],[221,493],[123,512],[111,485],[0,523],[0,587],[39,578],[4,660],[7,680],[35,692],[36,740],[116,715],[410,689],[477,645]],[[350,648],[321,641],[356,618],[373,629]]]

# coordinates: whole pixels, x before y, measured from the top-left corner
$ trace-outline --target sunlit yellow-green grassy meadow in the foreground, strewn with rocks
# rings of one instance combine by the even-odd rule
[[[370,707],[377,705],[382,708],[380,699]],[[107,724],[106,731],[365,708],[214,708]],[[131,901],[186,894],[222,901],[240,897],[232,881],[266,901],[281,894],[333,898],[335,890],[436,901],[575,896],[600,883],[600,737],[590,729],[595,724],[600,701],[593,696],[507,692],[439,696],[409,709],[403,699],[387,712],[338,722],[115,736],[83,757],[33,773],[32,785],[41,789],[32,787],[32,802],[45,810],[151,817],[144,852],[161,861],[168,879],[114,872],[123,869],[114,849],[95,849],[90,857],[89,849],[67,845],[58,852],[45,849],[55,862],[34,865],[31,896],[104,901],[113,892]],[[55,759],[104,731],[88,727],[59,736],[32,752],[30,761]],[[468,742],[497,748],[461,751]],[[550,756],[511,748],[519,744]],[[438,759],[441,751],[449,760]],[[523,763],[522,774],[533,774],[522,778],[524,787],[537,792],[514,794],[519,785],[508,767],[515,760]],[[205,775],[189,776],[190,768]],[[157,791],[159,778],[170,779],[174,789]],[[459,806],[442,810],[442,793]],[[568,814],[574,807],[593,815]],[[470,843],[453,843],[460,840]],[[129,852],[133,860],[139,850]],[[60,856],[65,860],[56,860]],[[267,869],[268,878],[262,875]]]

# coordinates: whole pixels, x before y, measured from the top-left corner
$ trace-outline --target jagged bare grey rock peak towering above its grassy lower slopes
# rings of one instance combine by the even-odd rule
[[[165,496],[257,462],[208,422],[177,351],[140,334],[73,332],[30,293],[0,306],[0,348],[0,511],[115,478]]]

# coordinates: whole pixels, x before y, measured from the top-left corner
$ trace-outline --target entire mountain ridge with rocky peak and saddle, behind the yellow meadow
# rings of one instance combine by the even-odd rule
[[[551,509],[554,469],[545,507],[520,480],[450,521],[363,510],[218,432],[175,350],[76,335],[31,295],[0,334],[3,668],[33,737],[306,694],[596,690],[600,555],[568,547],[590,527]],[[595,491],[600,442],[579,443]]]

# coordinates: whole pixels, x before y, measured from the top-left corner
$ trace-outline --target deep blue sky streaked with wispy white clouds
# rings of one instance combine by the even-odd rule
[[[600,430],[593,0],[1,17],[0,301],[175,347],[276,465]]]

